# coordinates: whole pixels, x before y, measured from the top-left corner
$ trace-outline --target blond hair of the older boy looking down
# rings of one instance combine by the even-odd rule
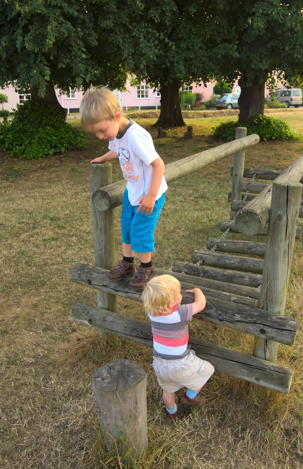
[[[80,119],[83,127],[100,121],[111,121],[115,113],[123,114],[118,98],[107,86],[92,87],[86,91],[80,103]]]

